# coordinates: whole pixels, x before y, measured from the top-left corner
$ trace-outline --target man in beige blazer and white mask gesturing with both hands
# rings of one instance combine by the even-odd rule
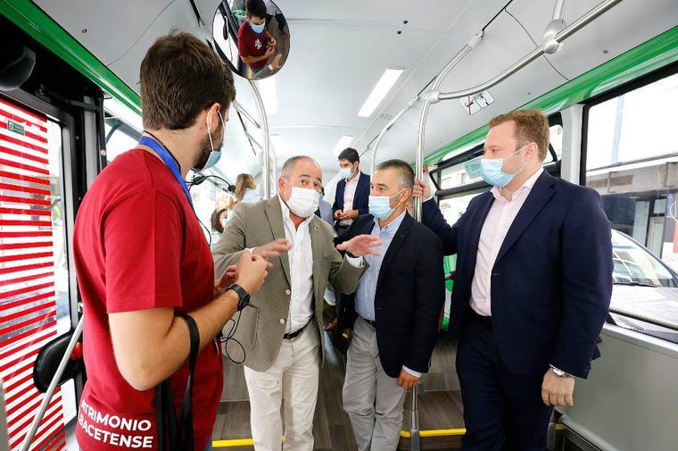
[[[279,195],[236,205],[212,251],[215,273],[236,263],[242,252],[269,260],[268,279],[224,329],[227,338],[235,338],[227,339],[227,355],[244,363],[257,451],[313,449],[325,288],[329,283],[345,294],[354,292],[365,270],[362,255],[376,253],[373,246],[380,244],[369,235],[352,238],[339,247],[350,255],[343,258],[332,227],[314,214],[321,185],[318,163],[306,156],[290,158],[278,180]]]

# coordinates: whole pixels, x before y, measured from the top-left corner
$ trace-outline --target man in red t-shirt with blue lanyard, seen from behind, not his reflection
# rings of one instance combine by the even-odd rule
[[[158,449],[153,388],[170,380],[180,411],[192,318],[194,449],[203,451],[223,380],[215,337],[259,290],[267,263],[244,255],[215,282],[184,181],[220,155],[236,95],[231,72],[200,39],[170,34],[145,55],[141,91],[145,136],[96,178],[75,226],[88,378],[76,435],[84,451]]]

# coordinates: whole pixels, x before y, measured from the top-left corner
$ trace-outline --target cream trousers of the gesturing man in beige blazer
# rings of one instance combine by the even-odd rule
[[[318,327],[283,340],[276,361],[265,372],[244,367],[250,394],[250,423],[256,451],[312,451],[313,415],[320,369]],[[285,430],[280,405],[285,397]],[[285,444],[282,436],[285,434]]]

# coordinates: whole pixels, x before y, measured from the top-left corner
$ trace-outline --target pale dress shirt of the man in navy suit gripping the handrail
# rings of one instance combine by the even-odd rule
[[[487,213],[487,218],[480,232],[478,252],[475,256],[475,274],[471,285],[471,308],[475,313],[483,316],[492,315],[492,267],[497,260],[504,238],[509,232],[511,224],[516,219],[520,208],[525,204],[525,199],[530,194],[534,183],[542,175],[543,168],[536,171],[527,179],[522,187],[518,188],[511,200],[501,196],[501,188],[492,188],[494,203]]]

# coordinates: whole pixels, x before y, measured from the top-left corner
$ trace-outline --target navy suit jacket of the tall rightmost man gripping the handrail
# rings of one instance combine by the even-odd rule
[[[427,227],[457,254],[450,334],[464,327],[480,232],[494,202],[476,196],[453,226],[433,200],[424,203]],[[608,316],[612,241],[600,197],[591,188],[543,172],[500,247],[492,268],[492,329],[511,372],[536,374],[549,365],[586,378]]]

